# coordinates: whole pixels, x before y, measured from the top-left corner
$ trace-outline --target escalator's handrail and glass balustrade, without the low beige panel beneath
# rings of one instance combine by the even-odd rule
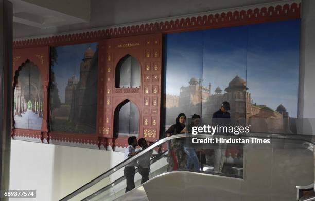
[[[126,179],[122,175],[124,175],[123,169],[126,165],[128,165],[130,163],[134,164],[139,158],[146,155],[146,153],[148,153],[150,151],[154,151],[155,153],[158,153],[158,155],[151,159],[150,179],[155,177],[155,176],[161,175],[165,172],[172,171],[172,170],[168,169],[168,166],[171,163],[170,158],[172,158],[172,154],[174,154],[174,153],[168,154],[171,157],[166,157],[168,142],[171,142],[171,141],[174,142],[174,140],[182,140],[182,139],[191,138],[191,137],[205,138],[205,137],[216,137],[216,136],[208,135],[208,134],[206,134],[206,135],[205,134],[198,134],[198,135],[178,134],[178,135],[173,135],[171,137],[161,139],[158,142],[155,142],[154,144],[150,145],[148,148],[146,148],[145,150],[143,150],[139,154],[121,162],[120,164],[118,164],[114,168],[101,174],[100,176],[93,179],[88,184],[83,185],[82,187],[80,187],[79,189],[77,189],[73,193],[67,195],[66,197],[64,197],[61,200],[114,200],[114,199],[120,197],[121,195],[125,194],[124,188],[126,187]],[[222,137],[226,137],[226,136],[222,136]],[[284,139],[298,140],[299,142],[302,142],[303,144],[305,144],[306,149],[309,149],[312,151],[314,149],[312,142],[305,140],[303,137],[300,138],[299,136],[286,136],[286,135],[276,135],[276,136],[269,135],[269,136],[266,136],[266,134],[262,134],[262,135],[261,134],[251,134],[251,135],[246,134],[246,135],[229,136],[229,137],[242,137],[242,138],[257,137],[257,138],[269,138],[269,139],[282,140],[282,141]],[[233,146],[235,146],[235,145],[233,145]],[[240,144],[238,146],[242,147],[243,145]],[[198,150],[198,147],[195,149],[195,152],[197,152],[196,155],[198,157],[198,160],[199,160],[199,163],[201,166],[201,168],[199,169],[198,172],[217,174],[216,172],[212,171],[213,167],[208,168],[209,166],[206,166],[208,164],[203,164],[204,158],[202,157],[202,155],[204,156],[204,153],[202,153],[202,150],[206,150],[205,152],[207,152],[208,150],[216,149],[216,148],[217,147],[214,147],[212,145],[211,146],[200,145],[199,150]],[[158,152],[159,150],[161,151],[161,149],[163,151]],[[224,148],[222,150],[224,150]],[[178,154],[178,153],[176,153],[176,154]],[[206,154],[208,154],[208,153],[206,153]],[[229,164],[229,161],[227,158],[229,158],[229,157],[225,158],[225,161],[224,161],[225,164]],[[174,167],[174,164],[172,164],[172,165]],[[242,178],[242,172],[243,172],[242,163],[240,163],[238,165],[239,165],[238,167],[233,167],[233,164],[232,164],[230,169],[228,168],[229,165],[227,165],[227,166],[224,165],[225,169],[223,168],[223,170],[222,170],[222,172],[224,173],[224,176]],[[177,164],[177,166],[178,166],[177,170],[196,171],[196,170],[193,170],[193,168],[186,169],[186,168],[180,167],[180,164]],[[203,170],[205,170],[205,171],[203,171]],[[237,170],[236,172],[241,172],[241,173],[239,173],[239,174],[241,174],[241,176],[234,174],[232,170]],[[232,171],[232,172],[230,172],[230,171]],[[219,173],[219,175],[220,175],[220,173]],[[136,173],[135,174],[136,187],[141,185],[139,183],[139,180],[141,180],[141,175]]]

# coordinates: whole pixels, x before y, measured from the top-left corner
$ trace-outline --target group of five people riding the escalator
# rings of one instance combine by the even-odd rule
[[[218,111],[216,111],[212,116],[213,125],[222,125],[229,124],[230,121],[230,110],[229,102],[223,102],[222,106]],[[224,119],[220,121],[220,119]],[[224,123],[222,123],[224,122]],[[177,135],[181,133],[190,133],[191,129],[194,126],[200,126],[201,117],[198,114],[194,114],[191,117],[191,123],[186,125],[186,115],[180,113],[175,119],[175,124],[171,125],[169,129],[166,130],[166,137],[172,135]],[[194,170],[200,171],[200,160],[196,154],[196,150],[193,146],[190,146],[190,143],[187,142],[188,138],[178,138],[172,139],[167,142],[168,149],[168,171],[174,170]],[[148,143],[144,138],[137,140],[135,136],[128,138],[129,146],[125,150],[125,159],[128,159],[134,155],[137,155],[142,150],[148,147]],[[140,148],[136,148],[139,145]],[[205,152],[208,149],[204,150]],[[214,173],[221,173],[224,165],[224,155],[226,151],[226,144],[217,144],[214,148]],[[126,177],[126,192],[132,190],[135,187],[134,176],[135,176],[135,167],[139,174],[142,176],[141,184],[149,180],[150,174],[150,159],[152,157],[152,151],[149,151],[143,154],[141,157],[138,157],[137,160],[129,163],[125,166],[124,175]],[[206,154],[207,157],[207,154]]]

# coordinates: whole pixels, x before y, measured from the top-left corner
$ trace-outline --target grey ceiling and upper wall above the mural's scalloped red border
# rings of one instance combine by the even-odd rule
[[[274,0],[10,0],[13,37],[147,21]]]

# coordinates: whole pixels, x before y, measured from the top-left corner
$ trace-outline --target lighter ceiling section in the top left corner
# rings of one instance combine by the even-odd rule
[[[90,21],[89,0],[10,0],[13,3],[13,22],[35,28],[54,28],[58,26]],[[83,2],[83,4],[78,4]],[[73,7],[76,7],[74,9]],[[74,12],[80,10],[81,12]]]

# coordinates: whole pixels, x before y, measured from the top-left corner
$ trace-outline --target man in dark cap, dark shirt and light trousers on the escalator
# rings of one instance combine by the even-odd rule
[[[222,106],[218,111],[216,111],[212,115],[212,126],[227,126],[230,125],[230,103],[224,101]],[[214,150],[215,162],[214,162],[214,172],[222,173],[224,160],[225,160],[225,152],[226,152],[226,144],[219,143],[218,148]]]

